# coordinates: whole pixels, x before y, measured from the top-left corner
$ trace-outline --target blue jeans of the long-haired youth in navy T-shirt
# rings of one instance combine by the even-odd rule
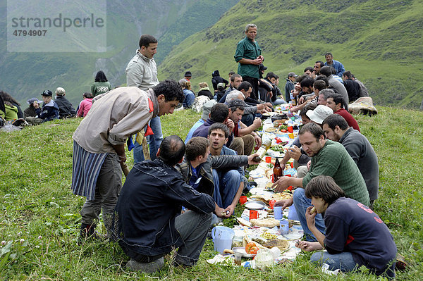
[[[327,251],[318,251],[312,254],[310,261],[312,263],[317,263],[319,266],[323,263],[327,263],[329,265],[329,270],[341,269],[341,271],[344,272],[352,271],[358,266],[354,261],[353,255],[348,251],[334,255],[329,254]]]

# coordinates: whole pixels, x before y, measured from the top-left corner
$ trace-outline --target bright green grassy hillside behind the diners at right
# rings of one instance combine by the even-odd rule
[[[209,82],[219,69],[227,77],[238,66],[235,46],[247,23],[258,26],[264,65],[281,77],[302,73],[330,51],[364,82],[376,104],[418,107],[423,82],[422,18],[419,0],[252,1],[242,0],[207,30],[177,46],[159,68],[160,77]]]

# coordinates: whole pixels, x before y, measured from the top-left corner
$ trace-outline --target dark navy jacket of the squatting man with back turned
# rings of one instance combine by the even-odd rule
[[[212,213],[211,196],[185,183],[178,171],[160,158],[135,163],[116,204],[118,243],[146,256],[165,254],[183,244],[175,218],[181,206]]]

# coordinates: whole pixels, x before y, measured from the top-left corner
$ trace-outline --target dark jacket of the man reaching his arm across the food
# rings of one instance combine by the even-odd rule
[[[202,178],[198,185],[197,191],[213,196],[214,183],[212,169],[232,168],[236,170],[241,166],[246,166],[247,164],[248,157],[245,155],[209,155],[207,157],[207,161],[202,163],[200,166],[200,173],[198,173],[198,177]],[[192,176],[190,161],[184,159],[183,163],[176,165],[176,170],[178,170],[182,174],[185,182],[190,182],[190,177]]]

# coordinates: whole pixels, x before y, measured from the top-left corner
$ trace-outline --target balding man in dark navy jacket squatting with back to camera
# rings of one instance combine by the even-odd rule
[[[178,249],[176,265],[198,261],[215,204],[212,196],[192,189],[173,168],[184,154],[180,137],[166,137],[157,158],[135,163],[126,177],[114,222],[118,243],[130,256],[130,270],[154,273],[173,249]],[[180,214],[182,204],[190,211]]]

